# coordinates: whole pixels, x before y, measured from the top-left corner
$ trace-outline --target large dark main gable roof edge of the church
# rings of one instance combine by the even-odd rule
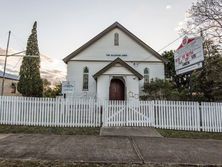
[[[142,46],[144,49],[146,49],[148,52],[151,52],[155,57],[157,57],[158,59],[160,59],[162,62],[167,63],[167,61],[159,54],[157,53],[155,50],[153,50],[150,46],[148,46],[147,44],[145,44],[142,40],[140,40],[138,37],[136,37],[133,33],[131,33],[129,30],[127,30],[125,27],[123,27],[120,23],[115,22],[113,23],[111,26],[109,26],[108,28],[106,28],[104,31],[102,31],[101,33],[99,33],[97,36],[95,36],[94,38],[92,38],[91,40],[89,40],[87,43],[85,43],[83,46],[81,46],[80,48],[78,48],[77,50],[75,50],[74,52],[72,52],[70,55],[68,55],[67,57],[65,57],[63,59],[63,61],[65,63],[67,63],[69,60],[71,60],[73,57],[75,57],[77,54],[79,54],[80,52],[82,52],[84,49],[86,49],[87,47],[89,47],[90,45],[92,45],[94,42],[96,42],[97,40],[99,40],[100,38],[102,38],[104,35],[106,35],[108,32],[112,31],[115,28],[119,28],[120,30],[122,30],[126,35],[128,35],[131,39],[133,39],[136,43],[138,43],[140,46]]]

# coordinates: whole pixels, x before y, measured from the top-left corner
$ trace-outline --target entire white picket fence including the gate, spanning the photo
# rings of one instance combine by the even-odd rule
[[[0,124],[59,127],[152,126],[222,132],[222,103],[0,96]]]

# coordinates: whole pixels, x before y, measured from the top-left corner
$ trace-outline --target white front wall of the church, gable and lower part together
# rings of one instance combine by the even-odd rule
[[[116,32],[119,33],[119,46],[114,46],[113,43],[114,33]],[[107,54],[126,54],[127,56],[120,56],[120,58],[140,74],[143,75],[144,69],[147,67],[149,68],[150,79],[164,79],[163,62],[136,43],[124,32],[116,28],[80,52],[67,63],[67,81],[74,81],[75,83],[74,96],[89,96],[92,98],[97,96],[104,98],[109,97],[107,93],[102,95],[102,92],[109,92],[109,82],[105,82],[105,80],[108,81],[108,79],[101,78],[96,81],[93,78],[95,73],[117,58],[116,56],[107,56]],[[89,90],[83,91],[83,69],[86,66],[89,69]],[[122,74],[122,76],[127,77],[128,74]],[[144,80],[138,81],[139,87],[137,86],[138,83],[135,83],[136,80],[130,79],[130,77],[126,79],[126,81],[129,82],[127,83],[127,91],[132,90],[133,92],[137,92],[137,89],[139,89],[141,93]],[[104,86],[104,84],[106,84],[106,86]],[[99,93],[99,95],[97,93]]]

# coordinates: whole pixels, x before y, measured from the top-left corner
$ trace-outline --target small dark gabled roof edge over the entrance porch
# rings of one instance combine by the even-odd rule
[[[132,72],[135,76],[137,76],[139,78],[139,80],[143,79],[143,76],[139,72],[137,72],[134,68],[132,68],[130,65],[128,65],[126,62],[124,62],[120,58],[116,58],[114,61],[109,63],[107,66],[105,66],[104,68],[99,70],[96,74],[93,75],[93,78],[97,79],[100,75],[102,75],[104,72],[106,72],[108,69],[110,69],[111,67],[113,67],[117,63],[121,64],[123,67],[125,67],[130,72]]]

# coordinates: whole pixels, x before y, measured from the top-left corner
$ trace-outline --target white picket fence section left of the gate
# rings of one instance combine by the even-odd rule
[[[0,97],[0,124],[96,127],[100,118],[95,100]]]

